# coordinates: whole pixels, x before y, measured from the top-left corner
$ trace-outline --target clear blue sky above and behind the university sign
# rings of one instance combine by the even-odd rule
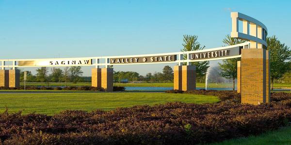
[[[0,58],[177,52],[184,34],[197,35],[202,45],[214,48],[230,34],[230,12],[258,19],[268,36],[291,46],[290,6],[290,0],[0,0]],[[114,70],[144,75],[163,66]],[[90,67],[83,72],[90,76]]]

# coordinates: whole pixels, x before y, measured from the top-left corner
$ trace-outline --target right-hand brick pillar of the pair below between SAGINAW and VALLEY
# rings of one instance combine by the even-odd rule
[[[105,91],[113,91],[113,68],[101,69],[101,87]]]

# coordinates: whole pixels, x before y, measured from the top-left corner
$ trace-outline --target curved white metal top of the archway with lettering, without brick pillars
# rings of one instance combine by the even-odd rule
[[[267,28],[264,24],[250,16],[238,12],[231,13],[231,18],[232,18],[231,37],[247,40],[249,42],[197,51],[147,54],[147,55],[108,56],[89,58],[0,59],[1,69],[2,70],[4,70],[4,68],[15,69],[16,67],[66,67],[66,66],[95,66],[96,68],[99,68],[99,66],[105,66],[107,68],[108,66],[111,65],[136,65],[153,63],[178,63],[178,65],[182,65],[185,62],[187,62],[187,65],[189,65],[190,62],[195,61],[240,58],[241,57],[240,49],[242,48],[267,47],[266,43]],[[239,32],[238,24],[240,20],[243,22],[243,33]],[[172,56],[174,56],[175,59],[172,58],[171,61],[165,59],[161,59],[162,61],[157,61],[157,57],[170,58]],[[135,58],[136,60],[144,59],[144,61],[140,60],[139,62],[136,61],[136,63],[134,63],[133,58]],[[153,62],[148,61],[148,58],[156,58],[156,61]],[[103,63],[99,63],[100,60],[102,60]],[[119,63],[112,63],[114,62],[114,60],[119,61]],[[9,64],[12,65],[6,65],[7,62],[9,62]]]

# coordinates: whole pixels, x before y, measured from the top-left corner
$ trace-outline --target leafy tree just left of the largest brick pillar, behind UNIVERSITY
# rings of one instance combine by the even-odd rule
[[[231,38],[229,35],[226,35],[226,38],[222,41],[226,45],[235,45],[239,43],[244,43],[244,40],[240,40],[237,38]],[[237,62],[240,61],[241,58],[231,58],[231,59],[224,59],[223,63],[218,63],[220,69],[222,70],[219,74],[226,79],[232,79],[233,86],[232,89],[234,90],[235,86],[235,79],[237,78],[237,69],[238,64]]]

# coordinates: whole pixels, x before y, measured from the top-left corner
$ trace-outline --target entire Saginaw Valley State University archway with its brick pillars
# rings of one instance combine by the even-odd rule
[[[109,66],[176,63],[178,65],[174,67],[174,89],[191,90],[196,88],[195,66],[191,66],[191,62],[242,58],[238,61],[238,92],[242,94],[242,103],[270,102],[269,53],[266,50],[267,28],[258,20],[241,13],[231,13],[231,18],[231,37],[247,40],[247,42],[197,51],[148,55],[0,59],[2,69],[0,70],[0,87],[19,87],[19,70],[16,70],[18,67],[94,66],[92,86],[113,91],[113,68]],[[242,33],[239,32],[239,21],[243,22]],[[7,63],[9,65],[6,65]],[[5,70],[5,68],[12,68],[12,70]]]

